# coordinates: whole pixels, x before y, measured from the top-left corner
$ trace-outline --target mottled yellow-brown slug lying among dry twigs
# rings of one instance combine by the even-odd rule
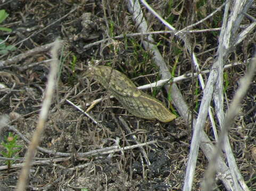
[[[164,123],[176,118],[159,100],[138,90],[125,74],[109,66],[90,67],[89,71],[131,114]]]

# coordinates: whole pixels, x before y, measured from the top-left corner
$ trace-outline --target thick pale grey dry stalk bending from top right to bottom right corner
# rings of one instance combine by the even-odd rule
[[[219,47],[218,47],[218,58],[217,58],[217,70],[218,70],[218,81],[216,83],[216,89],[213,94],[215,109],[217,112],[217,117],[219,120],[219,124],[221,129],[223,129],[223,121],[224,121],[224,88],[223,88],[223,65],[225,64],[225,60],[227,60],[227,56],[232,49],[237,45],[236,41],[233,41],[234,38],[243,40],[246,34],[250,31],[245,29],[246,32],[241,32],[243,35],[237,35],[238,27],[244,17],[243,12],[246,12],[247,9],[252,4],[252,1],[236,1],[233,5],[229,5],[230,2],[227,3],[224,13],[224,19],[222,22],[222,29],[220,32],[219,38]],[[230,11],[229,6],[233,6],[232,11]],[[228,13],[230,14],[228,16]],[[249,28],[252,27],[252,24],[249,25]],[[237,37],[236,37],[237,36]],[[237,41],[240,41],[237,40]],[[221,134],[222,136],[222,134]],[[221,142],[221,140],[220,140]],[[228,136],[226,135],[224,138],[224,148],[226,151],[226,157],[228,160],[229,168],[232,174],[232,179],[234,183],[235,190],[249,190],[246,186],[243,177],[240,173],[236,165],[236,161],[234,155],[232,153],[232,148],[230,146]],[[210,187],[209,187],[210,188]]]

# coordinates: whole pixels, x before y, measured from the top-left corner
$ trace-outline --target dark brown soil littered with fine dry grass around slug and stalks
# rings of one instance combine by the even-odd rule
[[[36,161],[46,159],[48,161],[31,166],[27,190],[181,190],[192,136],[191,127],[187,125],[186,119],[178,117],[171,123],[164,124],[156,120],[145,120],[129,115],[117,100],[109,98],[108,91],[95,83],[92,77],[88,78],[84,75],[89,62],[96,63],[95,60],[100,60],[101,65],[111,65],[126,73],[130,79],[141,76],[134,80],[137,86],[160,78],[158,74],[155,74],[158,72],[158,67],[153,63],[152,54],[145,52],[140,45],[140,36],[105,41],[84,49],[84,46],[109,36],[137,32],[125,1],[13,0],[5,4],[4,2],[6,1],[0,1],[0,8],[6,10],[9,17],[3,25],[13,31],[11,33],[0,31],[0,39],[5,39],[10,34],[7,44],[13,45],[29,38],[17,44],[17,49],[2,57],[1,60],[51,43],[57,37],[65,40],[61,51],[63,67],[60,80],[40,142],[41,147],[52,153],[37,151]],[[102,2],[106,2],[105,6]],[[154,9],[167,18],[168,15],[165,14],[168,13],[168,1],[153,2],[151,1]],[[178,5],[178,2],[174,1],[174,4]],[[183,6],[184,9],[180,13],[172,10],[172,13],[176,14],[171,19],[177,29],[182,29],[202,19],[199,12],[203,7],[199,6],[198,10],[193,11],[186,8],[189,7],[188,4]],[[74,8],[76,8],[75,11],[70,13]],[[214,11],[207,3],[204,9],[205,14]],[[65,16],[66,14],[68,15]],[[218,21],[217,18],[222,14],[221,11],[214,18],[217,22],[214,27],[221,27],[221,20]],[[145,11],[145,15],[153,30],[164,30],[164,26],[151,14]],[[189,19],[192,15],[193,20]],[[205,21],[198,26],[199,29],[214,27],[211,21]],[[206,62],[206,60],[210,60],[209,58],[212,60],[216,54],[216,49],[205,53],[204,51],[217,47],[218,32],[192,33],[192,39],[196,42],[195,52],[199,54],[198,58],[203,70],[210,68],[212,62]],[[243,42],[247,48],[243,48],[242,45],[238,46],[234,54],[230,55],[231,63],[251,57],[255,43],[254,34],[255,32],[252,32],[251,36]],[[175,76],[191,71],[191,55],[187,54],[183,42],[171,34],[159,34],[154,38],[157,42],[161,41],[159,48],[164,59],[169,63],[170,71],[175,59],[178,60],[178,70],[175,71]],[[75,58],[77,60],[72,65]],[[0,74],[0,83],[12,90],[1,91],[0,89],[0,115],[9,115],[10,125],[18,129],[29,140],[38,122],[49,64],[39,64],[25,69],[24,67],[47,59],[51,59],[49,51],[1,67],[1,71],[5,73]],[[228,79],[226,108],[227,103],[233,98],[238,80],[244,74],[245,68],[245,64],[242,64],[226,70]],[[199,93],[192,96],[196,83],[196,80],[191,79],[178,83],[194,115],[199,110],[198,105],[202,98],[200,88]],[[256,189],[254,172],[256,157],[253,157],[256,144],[254,138],[256,136],[255,92],[256,83],[253,81],[243,100],[240,115],[230,131],[230,142],[238,167],[252,190]],[[168,93],[163,89],[153,90],[153,92],[148,90],[147,93],[154,94],[165,105],[169,105]],[[86,115],[65,101],[68,99],[86,110],[88,108],[86,103],[102,97],[103,101],[89,111],[89,115],[103,126],[94,124]],[[126,121],[129,128],[125,126],[122,119]],[[213,137],[210,126],[210,122],[205,125],[205,132]],[[4,136],[7,136],[9,132],[8,127],[2,129],[0,142],[4,141]],[[135,145],[137,143],[133,136],[136,136],[138,143],[149,141],[157,141],[157,143],[143,146],[146,155],[143,155],[139,147],[89,157],[79,157],[77,154],[110,146]],[[28,143],[18,136],[17,144],[22,145],[18,157],[24,159]],[[5,151],[2,145],[0,145],[0,150]],[[54,161],[54,159],[64,158],[64,156],[54,154],[55,152],[71,153],[71,157]],[[18,160],[13,164],[20,162]],[[207,159],[200,151],[193,190],[199,189],[207,164]],[[0,160],[0,165],[4,166],[5,160]],[[19,167],[0,171],[0,190],[12,190],[15,187],[20,169]],[[225,190],[221,183],[217,183],[217,186],[220,190]]]

